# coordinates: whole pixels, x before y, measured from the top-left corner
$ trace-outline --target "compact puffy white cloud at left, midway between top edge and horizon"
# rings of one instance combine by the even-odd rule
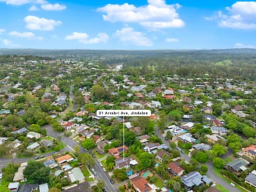
[[[32,15],[25,17],[24,21],[27,23],[27,29],[31,30],[51,31],[54,27],[61,25],[61,21],[35,17]]]

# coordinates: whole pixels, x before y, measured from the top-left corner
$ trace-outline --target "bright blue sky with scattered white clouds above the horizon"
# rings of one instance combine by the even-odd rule
[[[256,47],[256,1],[0,0],[0,48]]]

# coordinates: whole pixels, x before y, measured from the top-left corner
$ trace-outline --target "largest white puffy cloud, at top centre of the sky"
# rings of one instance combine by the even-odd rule
[[[141,7],[135,7],[128,3],[123,5],[107,4],[97,11],[106,13],[103,15],[105,21],[139,23],[151,29],[183,27],[185,25],[176,11],[181,5],[167,5],[164,0],[148,0],[147,2],[148,5]]]

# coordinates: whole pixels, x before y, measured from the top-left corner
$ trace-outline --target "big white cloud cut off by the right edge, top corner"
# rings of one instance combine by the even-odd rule
[[[256,1],[237,1],[226,10],[227,13],[219,11],[220,27],[256,29]]]

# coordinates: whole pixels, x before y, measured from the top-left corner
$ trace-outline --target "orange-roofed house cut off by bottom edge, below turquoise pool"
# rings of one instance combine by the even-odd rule
[[[149,185],[149,182],[144,177],[141,177],[139,175],[131,175],[129,179],[133,184],[135,190],[138,192],[150,192],[152,190],[152,188]]]

